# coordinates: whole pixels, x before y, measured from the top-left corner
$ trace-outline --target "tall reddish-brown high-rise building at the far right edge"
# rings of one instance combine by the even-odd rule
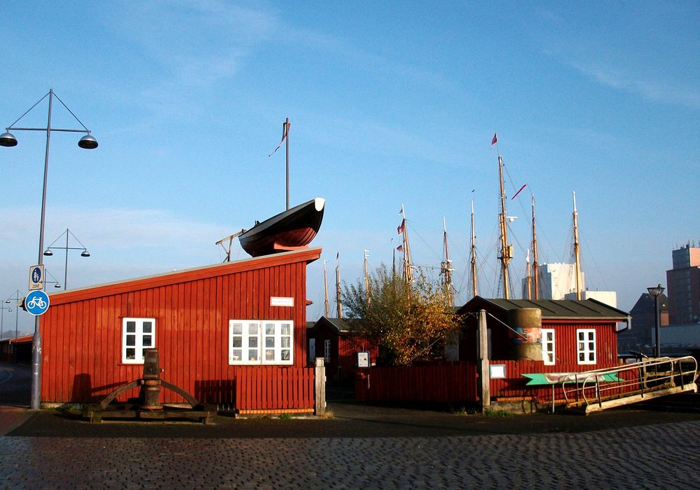
[[[666,271],[671,325],[700,323],[700,248],[686,243],[672,257],[673,268]]]

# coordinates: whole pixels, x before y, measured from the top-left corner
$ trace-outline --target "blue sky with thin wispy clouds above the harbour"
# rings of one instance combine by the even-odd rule
[[[352,282],[364,249],[372,267],[390,263],[404,203],[413,260],[427,273],[441,260],[445,217],[466,299],[473,199],[481,294],[495,295],[494,132],[508,195],[525,183],[535,194],[540,261],[572,261],[576,191],[586,286],[617,291],[620,308],[665,285],[675,245],[700,243],[694,2],[53,1],[3,10],[2,128],[53,88],[99,141],[84,151],[76,135],[51,138],[46,245],[69,228],[92,254],[71,252],[69,287],[219,262],[214,242],[284,208],[284,154],[268,154],[287,117],[291,203],[327,199],[313,245],[331,278],[336,253]],[[44,101],[22,126],[45,127],[47,110]],[[60,104],[52,125],[80,127]],[[36,263],[46,142],[40,132],[15,136],[17,147],[0,149],[4,298],[25,292]],[[508,202],[519,217],[515,284],[529,192]],[[64,257],[45,261],[61,282]],[[309,268],[310,319],[323,313],[322,269]],[[31,325],[29,315],[20,323]]]

